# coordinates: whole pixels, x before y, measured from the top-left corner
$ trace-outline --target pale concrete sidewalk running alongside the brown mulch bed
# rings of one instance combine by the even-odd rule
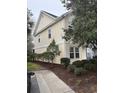
[[[75,93],[52,71],[35,71],[40,93]]]

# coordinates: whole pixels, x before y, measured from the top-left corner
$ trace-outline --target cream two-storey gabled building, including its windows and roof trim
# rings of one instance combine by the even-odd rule
[[[70,58],[71,62],[86,59],[85,47],[78,47],[71,41],[67,42],[63,39],[64,29],[68,28],[73,18],[72,12],[57,17],[41,11],[34,29],[35,53],[45,52],[54,39],[61,51],[60,55],[54,59],[54,63],[60,64],[60,59],[63,57]]]

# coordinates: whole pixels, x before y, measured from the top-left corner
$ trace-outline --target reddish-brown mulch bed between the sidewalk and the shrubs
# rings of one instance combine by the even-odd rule
[[[35,62],[42,67],[53,71],[60,79],[69,85],[76,93],[96,93],[97,73],[88,72],[86,75],[76,76],[68,72],[63,65],[51,64],[46,62]]]

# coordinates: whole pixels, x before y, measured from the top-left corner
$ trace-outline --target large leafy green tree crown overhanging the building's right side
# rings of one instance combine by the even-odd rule
[[[68,10],[73,10],[72,24],[65,29],[65,39],[79,46],[97,48],[97,0],[62,0]]]

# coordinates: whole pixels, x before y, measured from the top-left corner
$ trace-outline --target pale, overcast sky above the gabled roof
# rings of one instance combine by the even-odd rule
[[[36,21],[41,10],[60,16],[67,10],[63,7],[61,0],[27,0],[27,7],[33,13],[33,19]]]

